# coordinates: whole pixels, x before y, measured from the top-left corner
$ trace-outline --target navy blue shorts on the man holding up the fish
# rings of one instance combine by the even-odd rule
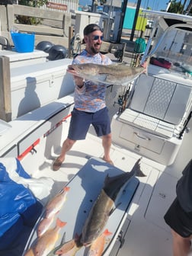
[[[110,133],[110,118],[107,107],[95,113],[84,112],[74,108],[72,110],[68,138],[72,140],[85,139],[91,124],[94,126],[97,136],[104,136]]]

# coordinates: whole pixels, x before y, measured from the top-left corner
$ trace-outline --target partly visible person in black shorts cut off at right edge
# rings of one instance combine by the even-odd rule
[[[165,214],[165,222],[171,227],[173,256],[187,256],[192,238],[192,159],[179,179],[174,202]]]

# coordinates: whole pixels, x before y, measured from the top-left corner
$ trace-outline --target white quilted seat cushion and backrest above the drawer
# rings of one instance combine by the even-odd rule
[[[165,138],[177,136],[191,106],[191,88],[151,75],[136,81],[130,105],[120,120]]]

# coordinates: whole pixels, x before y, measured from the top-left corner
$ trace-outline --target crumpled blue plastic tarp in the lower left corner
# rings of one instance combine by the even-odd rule
[[[17,161],[19,176],[30,178]],[[22,184],[12,181],[5,165],[0,162],[0,250],[5,249],[23,226],[34,226],[42,206],[32,192]]]

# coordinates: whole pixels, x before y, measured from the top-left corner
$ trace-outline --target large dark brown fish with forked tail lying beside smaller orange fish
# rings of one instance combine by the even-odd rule
[[[104,231],[104,226],[107,224],[110,214],[114,211],[114,203],[121,188],[130,178],[139,173],[139,162],[140,158],[130,172],[125,172],[114,177],[107,175],[105,178],[104,187],[95,200],[82,229],[81,243],[85,245],[85,247],[90,246]]]

